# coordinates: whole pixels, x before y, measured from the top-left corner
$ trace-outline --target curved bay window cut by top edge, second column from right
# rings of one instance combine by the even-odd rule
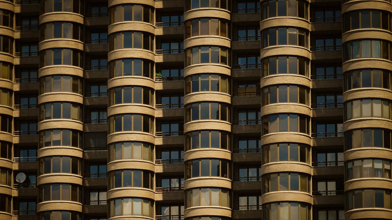
[[[261,18],[292,16],[308,20],[308,3],[301,0],[270,0],[261,4]]]

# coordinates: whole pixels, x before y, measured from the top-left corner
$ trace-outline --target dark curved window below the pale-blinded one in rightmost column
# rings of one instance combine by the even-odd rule
[[[345,150],[352,148],[391,148],[391,130],[380,128],[354,129],[345,132]]]

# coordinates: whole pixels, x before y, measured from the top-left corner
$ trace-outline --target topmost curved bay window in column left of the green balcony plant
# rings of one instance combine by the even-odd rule
[[[117,22],[154,23],[154,9],[148,5],[116,5],[109,9],[109,25]]]

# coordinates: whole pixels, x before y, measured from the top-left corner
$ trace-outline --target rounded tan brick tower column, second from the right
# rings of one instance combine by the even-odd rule
[[[309,2],[260,5],[263,217],[310,220]]]

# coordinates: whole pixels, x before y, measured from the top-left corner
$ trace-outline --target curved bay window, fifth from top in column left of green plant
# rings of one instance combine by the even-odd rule
[[[114,132],[147,132],[153,133],[154,118],[149,115],[123,114],[109,117],[109,133]]]

